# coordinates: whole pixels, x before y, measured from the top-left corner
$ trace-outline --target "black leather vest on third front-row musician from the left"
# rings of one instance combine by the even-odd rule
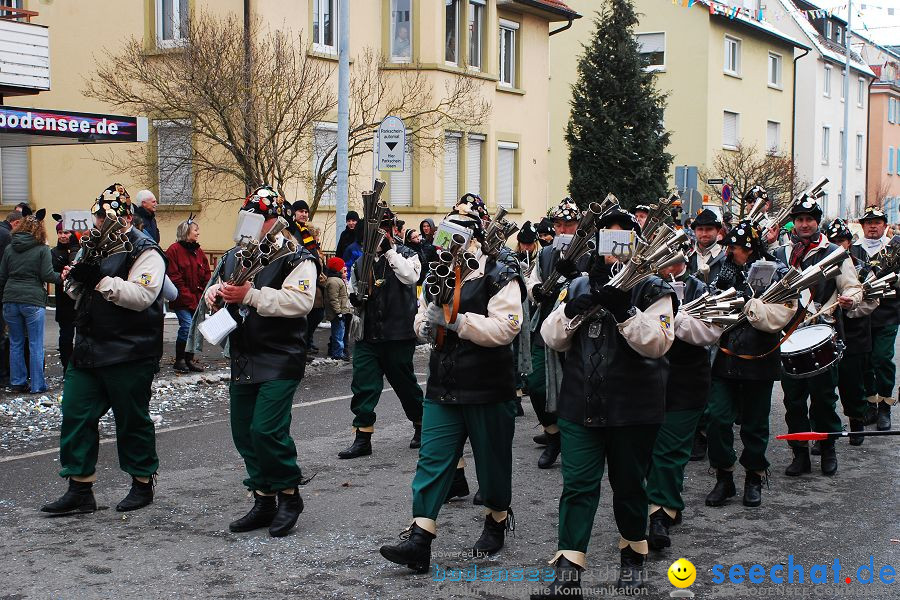
[[[487,315],[488,302],[510,281],[519,284],[524,299],[525,283],[518,269],[488,259],[483,277],[463,283],[459,314]],[[515,398],[512,344],[486,348],[448,329],[443,347],[431,351],[428,367],[425,396],[437,404],[489,404]]]

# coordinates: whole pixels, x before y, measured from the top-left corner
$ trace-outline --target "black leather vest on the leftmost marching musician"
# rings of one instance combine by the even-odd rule
[[[147,251],[158,253],[166,262],[156,242],[137,229],[131,228],[125,235],[131,242],[131,252],[100,261],[104,275],[128,279],[132,265]],[[93,369],[143,358],[159,360],[162,350],[162,287],[153,304],[140,312],[113,304],[96,290],[84,291],[75,309],[75,367]]]

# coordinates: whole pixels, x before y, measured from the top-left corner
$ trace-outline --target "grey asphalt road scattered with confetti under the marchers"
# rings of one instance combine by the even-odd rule
[[[425,355],[419,353],[420,380],[425,369]],[[177,393],[167,371],[164,367],[158,385]],[[227,530],[228,522],[242,515],[251,501],[240,485],[243,465],[231,442],[224,399],[205,406],[201,417],[190,407],[167,414],[158,429],[161,469],[156,501],[126,515],[109,509],[45,518],[38,507],[65,489],[56,475],[55,438],[43,439],[27,453],[22,449],[0,453],[0,600],[527,598],[538,585],[528,577],[544,576],[546,561],[556,549],[561,488],[558,467],[546,471],[536,467],[540,449],[531,441],[536,419],[527,401],[514,442],[515,534],[494,558],[473,561],[460,556],[477,539],[482,513],[471,504],[471,496],[453,502],[438,520],[432,558],[437,567],[427,575],[412,575],[378,554],[378,547],[393,543],[411,518],[416,452],[407,446],[412,426],[396,396],[386,392],[379,405],[374,454],[338,460],[337,452],[351,437],[349,379],[349,365],[317,361],[297,394],[292,434],[304,473],[316,476],[301,490],[306,508],[295,532],[278,540],[264,531]],[[210,394],[216,390],[211,397],[221,396],[223,385],[209,384]],[[776,390],[773,435],[786,430],[778,386]],[[895,423],[900,424],[900,410],[894,412]],[[900,573],[898,438],[869,439],[856,448],[839,442],[840,466],[833,478],[817,474],[818,459],[812,475],[785,477],[789,454],[781,443],[770,445],[772,477],[763,490],[763,505],[755,509],[743,507],[739,499],[723,508],[704,506],[714,476],[705,463],[690,463],[685,521],[673,529],[673,548],[651,554],[646,597],[668,597],[675,589],[665,571],[679,557],[697,568],[690,591],[698,598],[900,597],[900,575],[893,584],[878,581],[882,566]],[[471,464],[468,449],[467,459]],[[474,469],[467,472],[474,493]],[[128,478],[117,468],[112,440],[101,446],[98,475],[98,502],[115,506],[127,493]],[[736,481],[740,487],[741,473]],[[615,581],[618,537],[604,481],[588,554],[591,569],[585,578],[586,586],[594,586],[595,596],[610,595],[604,586]],[[868,568],[857,573],[857,567],[868,566],[870,557],[876,581],[864,584],[860,581],[868,578]],[[836,559],[839,574],[834,572]],[[770,581],[770,569],[789,560],[803,566],[804,583]],[[749,571],[757,563],[765,569],[764,583],[727,583],[732,565]],[[827,567],[828,583],[810,582],[811,576],[820,574],[818,568],[810,572],[816,564]],[[476,566],[477,579],[482,580],[467,582]],[[724,584],[714,583],[720,571],[726,577]],[[500,572],[507,580],[498,581]],[[882,574],[890,577],[888,571]],[[795,581],[797,575],[795,569]],[[847,576],[849,584],[844,582]],[[839,583],[833,583],[835,579]]]

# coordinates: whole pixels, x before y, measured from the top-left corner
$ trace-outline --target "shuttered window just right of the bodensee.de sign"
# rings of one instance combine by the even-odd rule
[[[160,204],[193,204],[191,125],[188,121],[155,121],[156,164]]]

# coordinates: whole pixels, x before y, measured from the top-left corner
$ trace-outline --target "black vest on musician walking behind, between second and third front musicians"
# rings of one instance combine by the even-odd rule
[[[403,258],[417,256],[414,250],[401,244],[395,245],[394,249]],[[360,262],[353,265],[357,277],[360,276]],[[383,254],[375,260],[372,279],[372,291],[365,304],[363,339],[366,342],[416,339],[413,326],[417,308],[416,285],[407,285],[397,279]]]

